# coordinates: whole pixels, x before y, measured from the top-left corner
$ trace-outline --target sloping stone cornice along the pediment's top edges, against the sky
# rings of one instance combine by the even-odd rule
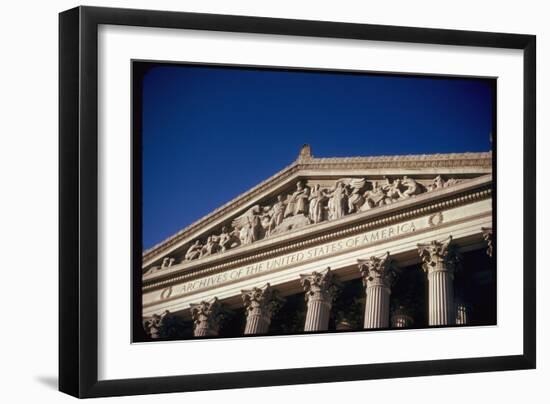
[[[299,157],[295,162],[277,172],[268,179],[262,181],[247,192],[237,196],[210,214],[195,221],[171,237],[156,244],[143,252],[143,262],[155,259],[159,254],[172,246],[185,240],[198,229],[208,226],[222,218],[231,211],[241,208],[249,201],[261,195],[269,188],[280,185],[287,178],[302,170],[333,170],[333,169],[422,169],[422,168],[457,168],[478,167],[490,169],[492,167],[492,153],[446,153],[446,154],[421,154],[398,156],[369,156],[369,157],[328,157],[314,158]]]

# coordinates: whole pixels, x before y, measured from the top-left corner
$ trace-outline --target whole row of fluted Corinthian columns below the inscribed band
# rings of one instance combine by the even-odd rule
[[[486,240],[489,231],[484,229]],[[489,243],[488,254],[492,253]],[[452,237],[445,240],[434,240],[418,244],[422,268],[428,280],[428,323],[430,326],[467,324],[468,306],[455,301],[454,275],[458,264],[458,254],[452,245]],[[383,256],[372,256],[358,260],[358,267],[365,288],[364,328],[403,328],[413,323],[406,307],[394,308],[390,319],[390,295],[398,274],[395,261],[390,253]],[[339,282],[330,268],[300,275],[300,282],[305,291],[307,312],[304,331],[324,331],[328,329],[332,304],[339,289]],[[266,334],[273,314],[284,303],[278,292],[269,284],[261,288],[242,291],[246,312],[245,335]],[[166,313],[165,313],[166,314]],[[161,316],[154,316],[149,321],[148,334],[158,338],[158,329],[162,323]],[[217,298],[191,305],[196,337],[218,335],[220,320],[224,310]]]

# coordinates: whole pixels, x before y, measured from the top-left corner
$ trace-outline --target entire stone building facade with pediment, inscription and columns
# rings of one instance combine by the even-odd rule
[[[492,154],[295,162],[143,253],[146,338],[496,323]]]

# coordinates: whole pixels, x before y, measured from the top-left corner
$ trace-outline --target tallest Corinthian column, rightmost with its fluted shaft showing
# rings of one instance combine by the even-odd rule
[[[455,324],[453,280],[457,259],[451,241],[449,236],[444,241],[418,244],[422,268],[428,274],[429,325]]]

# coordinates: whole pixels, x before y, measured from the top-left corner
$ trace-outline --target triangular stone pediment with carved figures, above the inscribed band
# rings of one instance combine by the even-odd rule
[[[143,254],[145,273],[439,192],[492,172],[492,154],[298,159]]]

